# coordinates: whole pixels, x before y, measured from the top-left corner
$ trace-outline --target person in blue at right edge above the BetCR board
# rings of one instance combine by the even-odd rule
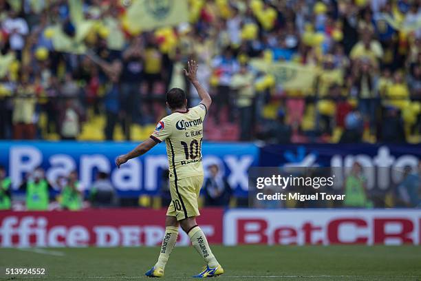
[[[412,173],[411,166],[404,167],[402,183],[398,186],[398,194],[406,207],[420,207],[421,198],[421,160],[418,161],[418,171]]]

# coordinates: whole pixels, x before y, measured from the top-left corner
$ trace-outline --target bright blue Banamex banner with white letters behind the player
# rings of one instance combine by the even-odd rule
[[[110,174],[112,185],[120,196],[158,194],[164,169],[168,169],[164,143],[155,146],[144,156],[132,159],[117,169],[114,164],[120,154],[136,147],[136,143],[79,143],[79,142],[0,142],[0,165],[6,167],[14,189],[25,175],[36,167],[43,167],[51,183],[58,176],[67,176],[76,169],[80,183],[89,189],[96,171]],[[248,168],[258,163],[259,149],[255,145],[235,143],[204,143],[203,164],[219,165],[228,183],[238,196],[246,196]],[[54,186],[53,186],[54,187]]]

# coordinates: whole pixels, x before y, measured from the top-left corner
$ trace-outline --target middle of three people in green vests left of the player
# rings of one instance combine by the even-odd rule
[[[46,211],[50,202],[49,184],[44,177],[44,170],[37,168],[26,183],[26,209],[28,211]]]

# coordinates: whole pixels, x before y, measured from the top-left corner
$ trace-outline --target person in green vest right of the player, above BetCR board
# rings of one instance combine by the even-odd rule
[[[372,203],[369,201],[367,195],[367,179],[363,175],[363,166],[360,163],[354,162],[352,170],[345,178],[345,200],[344,207],[371,207]]]

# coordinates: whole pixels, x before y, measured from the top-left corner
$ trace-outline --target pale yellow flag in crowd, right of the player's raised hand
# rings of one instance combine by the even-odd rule
[[[288,61],[268,63],[263,59],[256,59],[250,63],[258,70],[272,74],[277,85],[281,85],[285,90],[308,90],[313,87],[317,74],[314,66]]]

